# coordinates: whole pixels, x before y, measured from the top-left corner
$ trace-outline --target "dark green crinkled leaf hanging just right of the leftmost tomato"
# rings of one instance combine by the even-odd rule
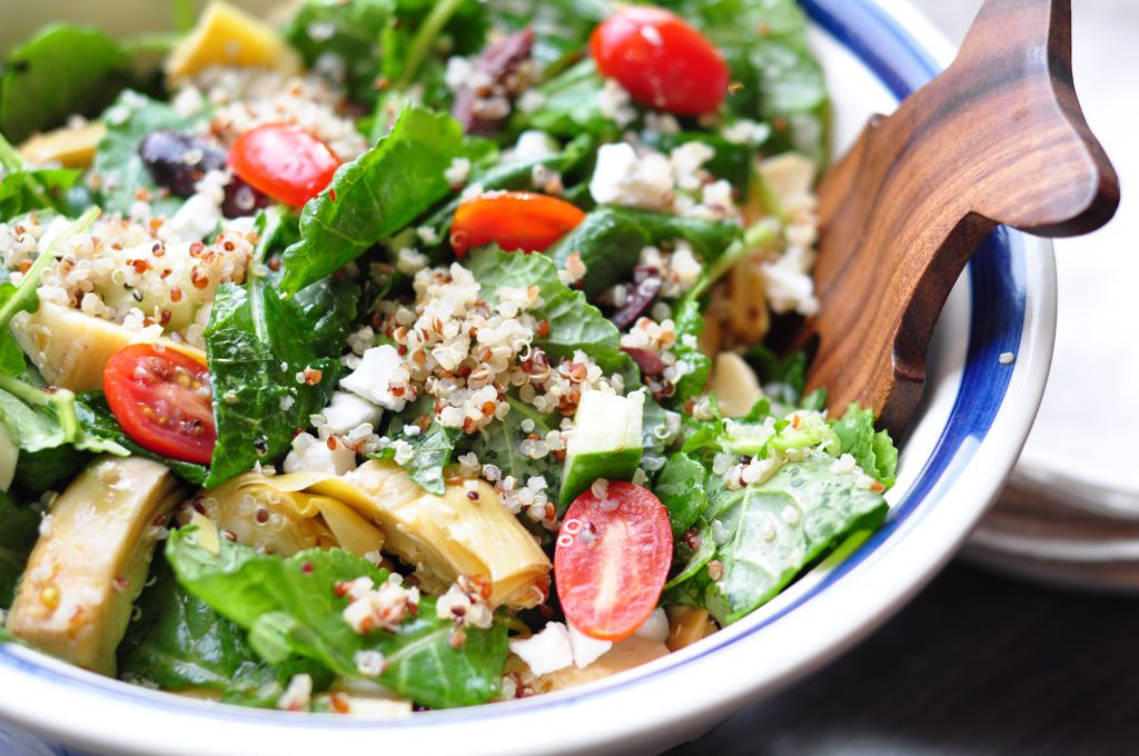
[[[254,260],[263,260],[292,231],[280,213],[262,215]],[[326,278],[284,299],[276,273],[218,288],[205,330],[218,426],[207,486],[257,461],[274,461],[296,429],[306,428],[309,417],[328,404],[359,297],[351,281]],[[320,379],[297,380],[305,369],[320,371]]]

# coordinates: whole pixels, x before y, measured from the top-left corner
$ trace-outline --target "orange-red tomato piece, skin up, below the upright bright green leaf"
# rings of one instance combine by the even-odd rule
[[[544,252],[584,220],[564,199],[530,191],[492,191],[454,211],[451,247],[460,257],[473,247],[497,244],[506,252]]]

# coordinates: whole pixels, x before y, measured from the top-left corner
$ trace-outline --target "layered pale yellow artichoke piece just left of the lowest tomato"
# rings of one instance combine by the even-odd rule
[[[546,598],[550,560],[483,480],[469,490],[450,483],[437,496],[394,462],[371,460],[309,491],[336,496],[377,523],[387,536],[385,550],[413,565],[427,592],[445,591],[459,575],[482,575],[491,581],[493,606],[528,608]]]

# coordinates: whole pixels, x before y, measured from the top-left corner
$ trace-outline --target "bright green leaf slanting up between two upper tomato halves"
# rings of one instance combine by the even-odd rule
[[[301,240],[285,250],[281,290],[296,294],[403,229],[451,192],[443,174],[453,159],[484,150],[464,139],[454,118],[407,108],[390,134],[341,166],[304,206]]]

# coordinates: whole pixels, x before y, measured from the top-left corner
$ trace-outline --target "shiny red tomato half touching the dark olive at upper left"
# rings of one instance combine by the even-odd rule
[[[254,189],[301,207],[328,186],[341,161],[301,126],[269,123],[237,138],[229,166]]]

